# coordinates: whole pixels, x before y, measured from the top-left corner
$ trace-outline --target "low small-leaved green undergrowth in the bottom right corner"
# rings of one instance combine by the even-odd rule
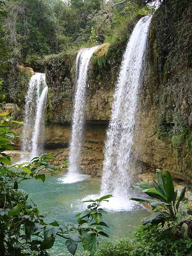
[[[120,239],[99,247],[96,256],[192,256],[191,246],[192,240],[180,239],[177,233],[146,225],[137,229],[133,240]]]

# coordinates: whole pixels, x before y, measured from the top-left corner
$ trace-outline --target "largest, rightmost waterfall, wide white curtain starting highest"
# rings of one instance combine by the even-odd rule
[[[113,96],[111,120],[105,142],[102,194],[111,193],[126,203],[131,181],[131,148],[138,91],[152,15],[141,18],[128,41]]]

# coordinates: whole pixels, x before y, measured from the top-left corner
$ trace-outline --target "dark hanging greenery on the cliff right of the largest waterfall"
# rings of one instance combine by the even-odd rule
[[[166,1],[154,13],[148,69],[151,101],[159,110],[157,138],[169,143],[175,169],[188,177],[192,175],[190,8],[189,0]]]

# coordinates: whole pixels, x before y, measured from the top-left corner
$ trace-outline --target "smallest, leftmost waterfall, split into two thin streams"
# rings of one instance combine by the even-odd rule
[[[44,134],[44,115],[48,87],[44,73],[35,73],[29,81],[24,113],[22,160],[30,160],[41,154],[40,138]],[[26,152],[30,152],[27,159]]]

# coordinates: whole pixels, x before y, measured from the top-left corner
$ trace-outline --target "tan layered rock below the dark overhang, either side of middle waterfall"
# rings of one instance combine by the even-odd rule
[[[81,151],[81,172],[91,176],[102,175],[103,149],[107,124],[89,124],[84,130]],[[50,152],[55,160],[53,165],[62,167],[68,160],[71,127],[67,125],[48,125],[45,131],[45,151]],[[52,147],[50,147],[52,145]]]

